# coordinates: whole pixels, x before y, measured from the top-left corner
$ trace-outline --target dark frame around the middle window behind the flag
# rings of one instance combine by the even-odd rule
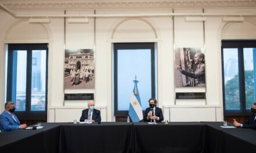
[[[155,42],[132,42],[132,43],[113,43],[113,108],[114,116],[127,116],[129,111],[118,111],[118,50],[119,49],[150,49],[151,50],[151,97],[156,97],[155,80]],[[132,91],[133,89],[131,89]],[[139,89],[140,90],[140,89]],[[151,97],[148,97],[150,99]],[[143,110],[144,112],[144,110]]]

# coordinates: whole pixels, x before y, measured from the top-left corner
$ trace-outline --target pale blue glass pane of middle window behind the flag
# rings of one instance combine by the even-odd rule
[[[129,110],[135,75],[143,110],[151,98],[151,50],[118,50],[118,111]]]

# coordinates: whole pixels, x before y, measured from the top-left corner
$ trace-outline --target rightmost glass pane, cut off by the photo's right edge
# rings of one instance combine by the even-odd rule
[[[256,48],[244,48],[244,81],[246,89],[246,109],[251,109],[255,102],[254,52]]]

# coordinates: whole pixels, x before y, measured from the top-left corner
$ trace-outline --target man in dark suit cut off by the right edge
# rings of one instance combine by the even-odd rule
[[[233,119],[234,126],[256,130],[256,103],[253,103],[253,107],[251,107],[251,112],[253,112],[253,114],[250,116],[248,121],[243,124],[237,122],[236,119]]]

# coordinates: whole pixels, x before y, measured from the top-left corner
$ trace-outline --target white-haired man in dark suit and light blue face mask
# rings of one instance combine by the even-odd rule
[[[83,110],[80,122],[100,122],[101,112],[94,108],[94,101],[88,102],[88,108]]]

